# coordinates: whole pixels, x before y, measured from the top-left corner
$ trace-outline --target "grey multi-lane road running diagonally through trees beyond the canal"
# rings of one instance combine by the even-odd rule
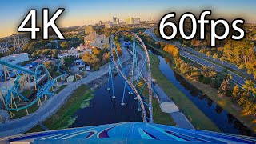
[[[157,41],[157,42],[166,42],[166,43],[171,43],[170,41],[165,41],[165,40],[162,40],[162,38],[158,38],[152,29],[147,29],[145,31],[145,34],[148,34],[150,35],[154,41]],[[189,47],[182,47],[182,46],[179,46],[179,43],[178,42],[174,42],[173,43],[175,46],[177,46],[179,48],[179,53],[181,56],[185,57],[185,58],[188,58],[190,59],[191,61],[193,62],[196,62],[198,63],[199,65],[201,66],[207,66],[207,67],[212,67],[214,68],[214,70],[218,71],[218,72],[221,72],[222,70],[225,69],[225,67],[229,67],[230,69],[233,69],[233,70],[236,70],[238,72],[241,72],[241,70],[238,69],[237,66],[235,66],[234,64],[231,64],[230,62],[221,62],[220,60],[216,59],[214,60],[214,58],[212,57],[209,57],[209,59],[211,59],[212,61],[214,62],[218,62],[219,65],[217,64],[214,64],[213,62],[210,62],[208,60],[206,60],[206,58],[208,58],[205,54],[202,54],[202,53],[199,53],[198,51],[195,51]],[[198,56],[199,55],[199,56]],[[202,58],[200,58],[202,57]],[[230,73],[232,75],[232,81],[236,84],[238,84],[238,86],[242,86],[245,84],[246,82],[246,78],[243,78],[242,76],[238,75],[238,74],[234,74],[234,72],[230,71],[230,70],[227,70],[228,73]],[[244,74],[244,73],[243,73]],[[253,77],[252,74],[247,74],[250,78]]]

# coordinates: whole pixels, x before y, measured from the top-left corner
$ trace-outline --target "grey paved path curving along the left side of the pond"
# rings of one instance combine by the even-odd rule
[[[127,50],[123,49],[122,62],[126,62],[130,59],[130,54]],[[0,137],[21,134],[30,130],[32,127],[38,124],[38,121],[43,122],[46,118],[49,118],[51,115],[55,114],[60,106],[69,98],[70,94],[81,86],[82,83],[87,84],[94,79],[102,77],[104,74],[108,73],[108,64],[100,67],[100,70],[91,73],[86,78],[82,78],[77,82],[71,82],[66,88],[60,91],[58,94],[55,94],[54,97],[50,98],[46,102],[42,103],[42,106],[39,109],[30,114],[29,116],[10,120],[6,123],[0,123]]]

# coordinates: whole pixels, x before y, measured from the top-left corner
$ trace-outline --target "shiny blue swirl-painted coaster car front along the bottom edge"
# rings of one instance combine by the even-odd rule
[[[217,133],[206,130],[187,130],[145,122],[122,122],[18,134],[0,138],[0,143],[251,143],[256,138]]]

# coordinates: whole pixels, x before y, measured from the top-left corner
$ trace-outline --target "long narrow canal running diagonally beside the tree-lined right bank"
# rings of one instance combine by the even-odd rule
[[[149,48],[149,46],[147,47]],[[233,115],[229,114],[226,110],[223,110],[221,106],[218,106],[217,103],[208,98],[206,94],[202,94],[201,90],[192,86],[180,75],[175,74],[170,68],[170,58],[164,57],[152,48],[150,48],[150,51],[158,56],[160,60],[159,70],[162,71],[166,78],[168,78],[170,82],[174,83],[174,85],[181,90],[187,98],[190,98],[194,105],[198,106],[202,113],[206,114],[206,116],[210,118],[210,120],[214,122],[222,132],[255,136],[250,129],[239,122],[238,119],[234,118]]]

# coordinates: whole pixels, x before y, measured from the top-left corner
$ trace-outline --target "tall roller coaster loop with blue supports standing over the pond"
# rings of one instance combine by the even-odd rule
[[[147,66],[148,66],[148,74],[147,74],[147,77],[146,77],[146,84],[148,86],[148,92],[149,92],[149,95],[148,95],[148,98],[142,98],[142,95],[140,92],[138,92],[137,88],[136,88],[136,85],[134,85],[134,81],[132,80],[132,82],[130,82],[130,80],[126,77],[126,75],[124,74],[124,71],[123,71],[123,68],[122,68],[122,62],[121,62],[121,59],[119,58],[118,56],[118,51],[117,51],[117,46],[114,42],[114,37],[117,35],[117,34],[120,34],[120,33],[129,33],[129,34],[133,34],[134,35],[134,45],[133,45],[133,66],[132,66],[132,78],[134,80],[134,72],[133,70],[137,68],[138,70],[138,57],[137,57],[137,52],[136,52],[136,39],[142,43],[142,48],[144,49],[145,51],[145,54],[146,54],[146,63],[147,63]],[[136,38],[136,39],[135,39]],[[114,58],[114,54],[113,54],[113,50],[115,51],[115,54],[117,56],[117,59],[118,59],[118,63],[116,62],[115,58]],[[144,65],[144,64],[143,64]],[[142,42],[142,39],[138,37],[137,34],[134,34],[133,32],[131,31],[127,31],[127,30],[122,30],[122,31],[118,31],[116,32],[115,34],[113,34],[111,36],[111,39],[110,39],[110,66],[109,66],[109,90],[110,88],[112,88],[112,94],[113,94],[113,98],[115,98],[114,96],[114,83],[113,83],[113,75],[112,75],[112,66],[114,66],[114,68],[118,71],[118,74],[121,75],[122,77],[122,80],[125,84],[125,88],[124,88],[124,92],[123,94],[125,94],[125,90],[128,89],[130,93],[134,94],[134,97],[138,99],[138,103],[142,109],[142,120],[143,122],[153,122],[153,107],[152,107],[152,88],[151,88],[151,71],[150,71],[150,57],[148,55],[148,52],[147,52],[147,49],[146,49],[146,46],[144,44],[144,42]],[[136,67],[137,66],[137,67]],[[142,66],[142,69],[143,69],[143,66]],[[137,81],[138,82],[138,81]],[[136,82],[136,84],[137,84]],[[144,89],[144,86],[142,87],[142,89]],[[142,90],[140,90],[142,91]],[[123,95],[124,97],[124,95]],[[146,103],[144,101],[144,99],[149,99],[149,102]],[[149,117],[146,116],[146,106],[148,107],[148,110],[149,110]]]

